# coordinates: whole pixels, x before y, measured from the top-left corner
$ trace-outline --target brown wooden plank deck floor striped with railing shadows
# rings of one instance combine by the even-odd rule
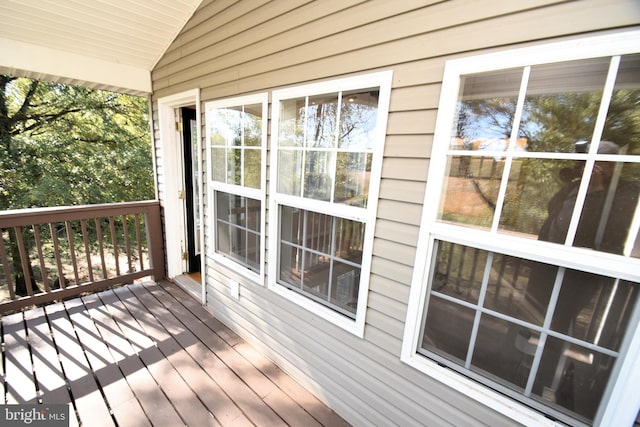
[[[2,344],[0,403],[70,403],[71,425],[347,425],[169,282],[4,316]]]

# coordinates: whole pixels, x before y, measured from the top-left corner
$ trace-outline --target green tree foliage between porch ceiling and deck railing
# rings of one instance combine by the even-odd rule
[[[146,99],[0,75],[0,210],[151,198]]]

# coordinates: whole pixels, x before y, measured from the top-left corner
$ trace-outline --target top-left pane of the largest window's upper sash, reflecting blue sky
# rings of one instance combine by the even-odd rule
[[[522,70],[464,76],[451,148],[504,150],[511,136]]]

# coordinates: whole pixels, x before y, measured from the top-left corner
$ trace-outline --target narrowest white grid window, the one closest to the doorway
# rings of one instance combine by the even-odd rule
[[[267,95],[206,103],[211,256],[262,283]],[[238,266],[242,268],[238,268]]]

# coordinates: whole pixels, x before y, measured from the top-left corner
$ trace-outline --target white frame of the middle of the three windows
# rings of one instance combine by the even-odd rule
[[[365,315],[367,309],[367,296],[369,294],[369,276],[371,272],[371,258],[373,253],[373,238],[375,219],[380,190],[382,173],[382,158],[387,129],[387,117],[389,112],[389,100],[391,96],[392,71],[383,71],[361,76],[347,77],[339,80],[311,83],[287,89],[275,90],[272,93],[272,117],[271,117],[271,162],[269,185],[269,262],[268,262],[268,286],[273,292],[292,301],[293,303],[309,310],[317,316],[337,325],[344,330],[359,336],[364,336]],[[376,135],[373,144],[373,156],[371,175],[369,181],[369,194],[366,208],[347,206],[331,202],[313,200],[309,198],[291,196],[277,192],[278,180],[278,125],[280,118],[280,101],[315,96],[336,92],[352,91],[379,87],[378,111],[376,121]],[[362,266],[360,270],[360,285],[358,289],[358,306],[355,320],[338,313],[331,308],[322,305],[312,299],[291,291],[286,286],[277,283],[279,269],[279,206],[289,206],[308,211],[327,214],[335,217],[351,219],[366,224],[364,235],[364,248],[362,253]]]

